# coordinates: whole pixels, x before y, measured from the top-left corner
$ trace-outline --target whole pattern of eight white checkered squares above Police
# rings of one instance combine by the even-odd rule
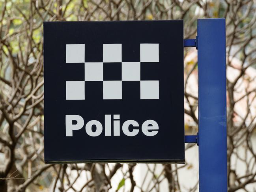
[[[140,99],[159,99],[158,80],[140,80],[141,62],[159,62],[159,44],[140,44],[140,62],[122,62],[122,44],[103,44],[103,62],[85,62],[84,44],[66,45],[66,63],[84,63],[84,80],[66,82],[67,100],[84,100],[85,81],[103,81],[103,99],[122,99],[122,81],[140,81]],[[104,63],[121,63],[120,81],[104,81]]]

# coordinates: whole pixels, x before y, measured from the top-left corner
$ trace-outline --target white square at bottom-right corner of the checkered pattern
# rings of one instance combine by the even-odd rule
[[[159,99],[159,81],[140,81],[140,99]]]

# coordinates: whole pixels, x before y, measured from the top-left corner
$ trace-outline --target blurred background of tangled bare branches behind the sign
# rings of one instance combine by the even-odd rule
[[[198,192],[196,144],[186,164],[44,163],[43,21],[183,19],[187,39],[197,19],[220,17],[228,191],[256,192],[256,0],[0,0],[0,192]],[[196,48],[184,49],[184,73],[185,134],[196,134]]]

